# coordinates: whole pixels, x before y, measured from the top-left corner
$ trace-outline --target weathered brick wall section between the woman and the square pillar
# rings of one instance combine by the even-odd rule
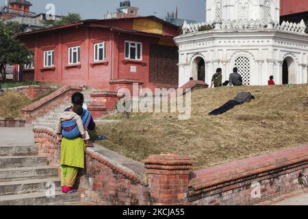
[[[78,191],[81,201],[91,205],[150,204],[144,183],[89,151],[86,153],[86,170],[79,175]]]

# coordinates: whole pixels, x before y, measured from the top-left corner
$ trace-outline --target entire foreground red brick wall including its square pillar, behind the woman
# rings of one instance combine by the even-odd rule
[[[34,130],[40,155],[60,164],[60,144],[52,131]],[[78,180],[81,201],[90,205],[253,205],[301,190],[298,175],[308,174],[308,146],[252,157],[191,171],[189,157],[151,155],[144,161],[146,175],[137,176],[105,158],[86,151],[86,170]],[[147,179],[147,180],[146,180]],[[260,198],[251,196],[252,183]]]

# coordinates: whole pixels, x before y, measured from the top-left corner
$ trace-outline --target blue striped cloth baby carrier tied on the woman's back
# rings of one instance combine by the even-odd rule
[[[84,110],[80,116],[82,124],[84,125],[84,130],[88,129],[88,125],[91,120],[91,114],[88,110]],[[62,136],[67,139],[74,139],[81,136],[81,133],[78,129],[77,123],[75,120],[67,120],[62,122]]]

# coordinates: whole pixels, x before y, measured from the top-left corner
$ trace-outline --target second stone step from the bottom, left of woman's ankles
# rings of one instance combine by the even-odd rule
[[[44,178],[44,179],[25,179],[18,181],[3,181],[0,182],[0,196],[25,194],[29,192],[44,192],[51,185],[47,183],[55,183],[55,190],[61,190],[61,180],[58,178]]]

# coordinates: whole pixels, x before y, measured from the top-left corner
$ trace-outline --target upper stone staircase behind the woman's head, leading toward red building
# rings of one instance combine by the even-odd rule
[[[91,103],[91,96],[92,90],[85,90],[82,92],[84,94],[85,103],[87,105],[90,105]],[[36,118],[36,120],[32,121],[32,125],[34,125],[34,128],[36,127],[49,127],[51,129],[55,129],[55,125],[57,124],[57,120],[60,118],[61,114],[66,110],[67,107],[70,107],[72,105],[70,99],[66,101],[65,103],[57,106],[55,110],[48,112],[44,116],[40,116]]]

